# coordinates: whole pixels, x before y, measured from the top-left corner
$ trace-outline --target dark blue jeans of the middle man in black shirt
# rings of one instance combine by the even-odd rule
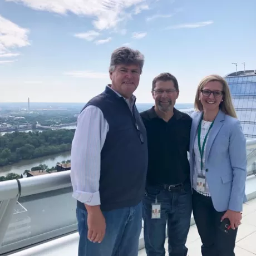
[[[161,203],[161,218],[152,219],[152,203]],[[169,256],[186,256],[185,243],[190,228],[192,193],[189,182],[180,189],[164,190],[146,186],[143,200],[144,240],[147,256],[165,256],[166,223],[168,224]]]

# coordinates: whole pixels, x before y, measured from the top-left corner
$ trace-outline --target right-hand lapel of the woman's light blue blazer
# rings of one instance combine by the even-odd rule
[[[225,114],[221,110],[219,110],[219,113],[215,118],[213,127],[211,128],[211,131],[209,132],[209,139],[208,139],[207,144],[206,144],[205,163],[208,159],[208,156],[209,156],[209,153],[210,153],[210,150],[211,150],[211,146],[213,145],[215,137],[217,136],[220,128],[223,126],[222,121],[224,120],[224,118],[225,118]]]

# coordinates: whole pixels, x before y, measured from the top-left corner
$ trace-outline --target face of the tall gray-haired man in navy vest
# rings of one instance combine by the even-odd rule
[[[110,72],[112,88],[126,99],[132,96],[140,82],[139,65],[116,65],[115,70]]]

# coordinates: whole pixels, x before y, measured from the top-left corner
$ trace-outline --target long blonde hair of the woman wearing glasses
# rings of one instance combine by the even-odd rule
[[[229,90],[229,86],[228,83],[226,82],[226,80],[219,76],[219,75],[210,75],[210,76],[206,76],[204,77],[199,85],[198,85],[198,89],[196,90],[196,95],[195,95],[195,110],[196,111],[203,111],[203,105],[201,104],[201,101],[199,100],[199,95],[201,90],[203,90],[204,86],[206,85],[206,83],[208,82],[212,82],[212,81],[218,81],[221,83],[223,89],[223,101],[220,102],[220,109],[221,111],[223,111],[225,114],[235,117],[237,118],[237,114],[235,112],[235,108],[231,99],[231,93]]]

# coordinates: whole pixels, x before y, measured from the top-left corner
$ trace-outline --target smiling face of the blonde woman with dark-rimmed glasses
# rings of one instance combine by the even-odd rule
[[[221,101],[223,101],[223,85],[219,81],[210,81],[201,89],[199,100],[204,110],[218,111]]]

